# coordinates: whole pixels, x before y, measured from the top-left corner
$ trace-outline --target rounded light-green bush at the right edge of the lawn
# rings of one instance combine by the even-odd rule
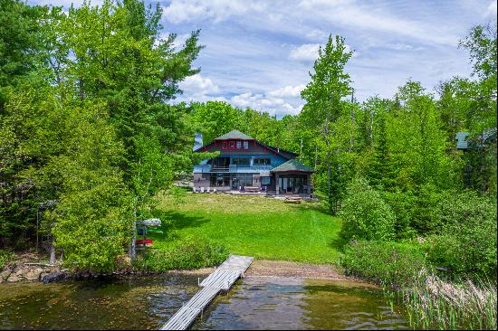
[[[356,240],[387,241],[394,237],[395,216],[380,194],[366,180],[355,178],[348,186],[340,211],[340,237]]]

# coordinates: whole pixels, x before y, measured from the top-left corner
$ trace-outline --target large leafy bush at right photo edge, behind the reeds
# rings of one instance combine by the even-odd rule
[[[431,238],[429,259],[455,278],[496,275],[496,202],[473,192],[438,205],[439,234]]]

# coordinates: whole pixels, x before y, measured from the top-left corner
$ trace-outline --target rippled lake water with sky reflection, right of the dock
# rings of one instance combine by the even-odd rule
[[[395,307],[395,311],[398,307]],[[194,329],[405,329],[378,288],[321,279],[248,277]]]

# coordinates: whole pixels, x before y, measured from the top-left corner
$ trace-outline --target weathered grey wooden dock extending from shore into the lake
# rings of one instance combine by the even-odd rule
[[[228,260],[199,284],[202,289],[169,318],[161,330],[187,330],[220,291],[232,288],[235,280],[244,274],[253,260],[248,256],[230,255]]]

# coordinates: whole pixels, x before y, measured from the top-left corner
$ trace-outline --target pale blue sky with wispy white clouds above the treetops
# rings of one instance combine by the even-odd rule
[[[28,0],[72,2],[82,0]],[[496,19],[496,0],[147,2],[162,6],[164,33],[177,33],[178,45],[201,29],[206,48],[195,62],[201,72],[182,82],[178,100],[225,100],[279,118],[302,108],[300,91],[329,33],[343,36],[354,50],[347,71],[362,101],[376,94],[390,98],[409,78],[433,90],[440,80],[468,76],[468,53],[458,41],[474,24]]]

